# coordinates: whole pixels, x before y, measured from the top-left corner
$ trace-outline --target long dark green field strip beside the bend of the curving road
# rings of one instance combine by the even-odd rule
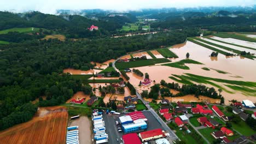
[[[115,63],[115,66],[118,69],[125,69],[125,68],[135,68],[135,67],[143,67],[147,65],[154,65],[156,63],[167,63],[167,62],[170,62],[170,60],[166,58],[155,58],[155,59],[147,59],[147,60],[132,61],[132,62],[118,62],[118,63]]]

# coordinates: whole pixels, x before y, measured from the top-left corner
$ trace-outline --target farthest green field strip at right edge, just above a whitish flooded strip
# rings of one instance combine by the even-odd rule
[[[246,37],[246,35],[243,35],[243,34],[215,33],[212,35],[220,38],[233,38],[233,39],[245,40],[250,42],[256,42],[256,39]]]

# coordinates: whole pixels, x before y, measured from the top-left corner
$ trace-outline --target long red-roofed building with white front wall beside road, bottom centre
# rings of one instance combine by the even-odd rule
[[[165,134],[162,132],[162,129],[153,129],[139,133],[139,137],[141,137],[142,142],[159,139],[164,136]]]

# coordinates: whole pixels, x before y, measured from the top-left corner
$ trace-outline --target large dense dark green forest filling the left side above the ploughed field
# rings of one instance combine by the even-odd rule
[[[135,37],[82,39],[78,41],[27,40],[2,45],[0,49],[0,130],[30,120],[37,106],[65,103],[75,92],[90,94],[81,80],[62,74],[65,68],[92,68],[90,62],[142,49],[156,49],[183,43],[197,31],[160,32]],[[62,75],[60,75],[62,74]],[[42,99],[46,97],[46,100]],[[30,101],[39,98],[39,104]]]

